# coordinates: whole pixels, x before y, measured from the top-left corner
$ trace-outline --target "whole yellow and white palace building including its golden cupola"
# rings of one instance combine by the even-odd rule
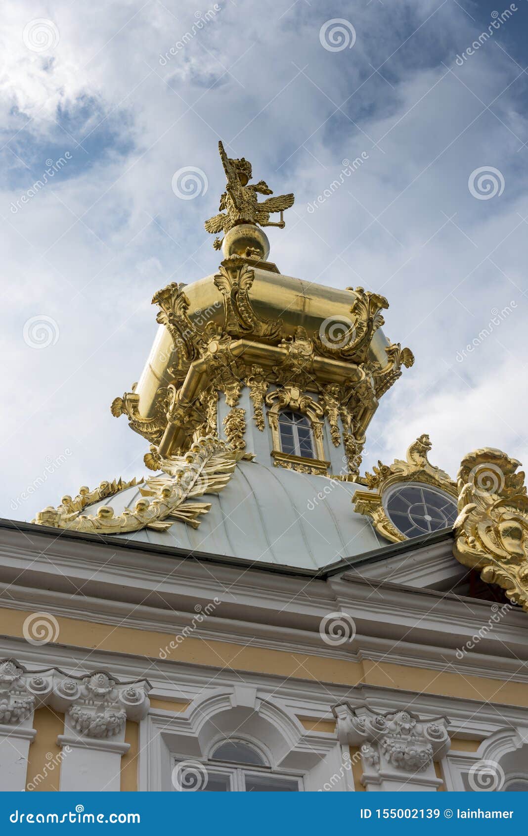
[[[362,475],[413,354],[383,296],[279,272],[293,196],[220,150],[218,272],[155,293],[111,405],[150,476],[0,526],[3,789],[525,790],[519,462],[455,482],[424,435]]]

